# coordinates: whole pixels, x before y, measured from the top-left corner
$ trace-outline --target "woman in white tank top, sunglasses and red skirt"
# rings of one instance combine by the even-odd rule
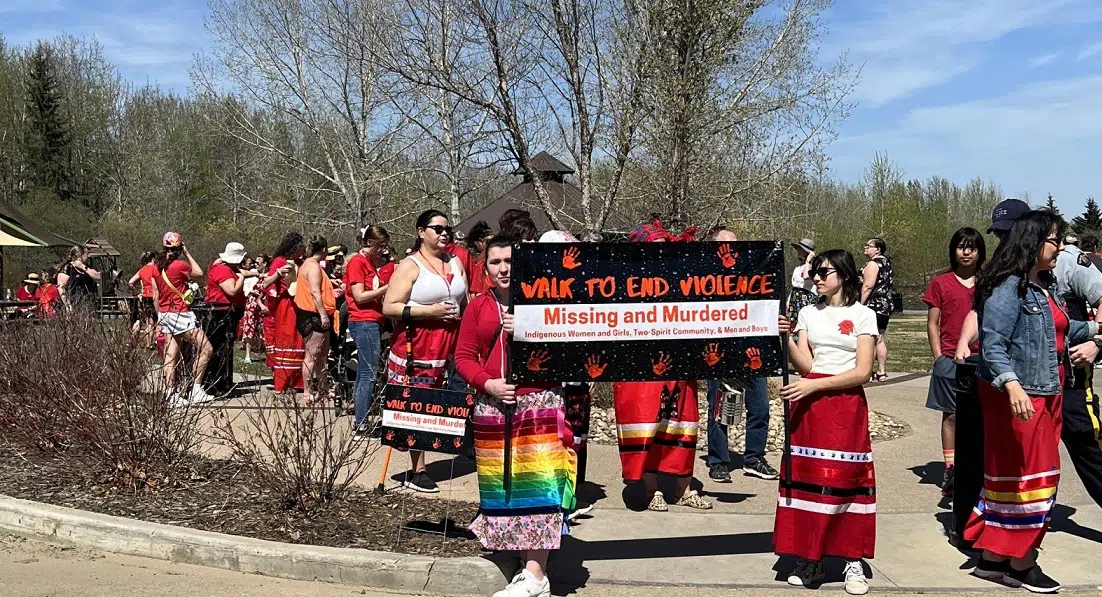
[[[460,260],[447,253],[452,227],[447,216],[429,209],[417,218],[413,250],[395,268],[382,300],[382,314],[397,322],[390,341],[387,380],[401,386],[443,388],[460,335],[460,307],[467,280]],[[410,328],[411,337],[407,338]],[[407,354],[407,343],[413,354]],[[413,359],[412,377],[407,359]],[[457,378],[458,376],[451,376]],[[424,453],[410,452],[413,474],[406,487],[424,493],[440,491],[425,473]]]

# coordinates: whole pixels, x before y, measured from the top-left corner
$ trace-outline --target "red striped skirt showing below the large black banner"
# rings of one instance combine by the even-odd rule
[[[616,436],[624,480],[644,473],[692,477],[696,457],[695,381],[622,381],[613,384]]]

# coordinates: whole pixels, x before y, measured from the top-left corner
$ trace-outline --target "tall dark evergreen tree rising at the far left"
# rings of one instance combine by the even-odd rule
[[[53,47],[39,42],[28,61],[26,155],[31,181],[41,191],[67,200],[69,175],[69,131],[57,88],[57,58]]]

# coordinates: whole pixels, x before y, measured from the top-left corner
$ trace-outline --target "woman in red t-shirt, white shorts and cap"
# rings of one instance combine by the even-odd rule
[[[161,243],[164,250],[158,260],[159,275],[154,279],[153,296],[156,301],[158,324],[165,337],[164,384],[169,402],[173,405],[209,402],[214,397],[203,390],[202,382],[213,349],[192,312],[187,294],[187,283],[203,278],[203,268],[187,251],[187,247],[184,247],[183,238],[177,232],[165,232]],[[176,390],[181,341],[190,344],[195,352],[192,387],[187,392]]]

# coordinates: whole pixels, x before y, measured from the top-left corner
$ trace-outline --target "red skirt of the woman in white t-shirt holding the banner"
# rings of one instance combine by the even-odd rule
[[[824,377],[830,376],[807,376]],[[799,400],[791,405],[789,428],[791,457],[781,464],[774,550],[804,560],[873,557],[876,475],[865,391]]]

